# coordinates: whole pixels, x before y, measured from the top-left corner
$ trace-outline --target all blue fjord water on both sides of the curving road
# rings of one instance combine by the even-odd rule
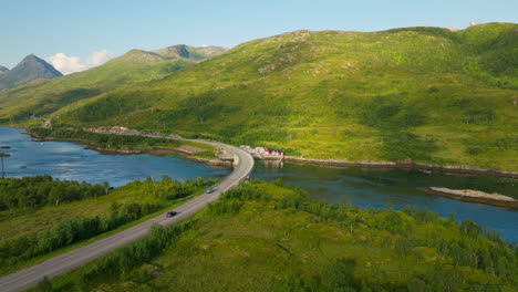
[[[22,177],[49,174],[60,179],[108,181],[122,186],[145,176],[168,175],[178,180],[196,177],[224,177],[230,168],[180,159],[178,156],[102,155],[83,145],[65,142],[32,142],[21,129],[0,127],[0,145],[12,156],[6,158],[6,175]],[[27,166],[27,168],[21,168]],[[338,168],[312,165],[256,163],[252,178],[303,187],[311,197],[359,206],[427,208],[442,217],[450,212],[458,220],[469,219],[498,230],[504,239],[518,240],[518,210],[469,204],[429,195],[431,186],[470,188],[503,195],[518,189],[518,180],[481,176],[426,174],[407,169]]]

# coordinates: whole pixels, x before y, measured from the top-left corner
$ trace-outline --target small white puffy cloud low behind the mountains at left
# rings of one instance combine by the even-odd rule
[[[64,53],[56,53],[55,55],[51,55],[46,59],[46,61],[64,75],[69,75],[75,72],[102,65],[113,56],[114,53],[107,50],[101,50],[93,52],[85,62],[81,62],[81,58],[79,56],[66,55]]]

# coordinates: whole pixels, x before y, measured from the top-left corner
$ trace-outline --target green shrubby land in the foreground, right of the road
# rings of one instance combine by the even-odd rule
[[[277,186],[276,186],[277,185]],[[313,202],[252,181],[37,291],[516,291],[498,234],[416,208]]]

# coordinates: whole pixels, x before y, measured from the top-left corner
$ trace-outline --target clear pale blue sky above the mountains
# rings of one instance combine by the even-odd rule
[[[12,67],[31,53],[45,60],[62,53],[87,67],[96,63],[94,52],[104,60],[134,48],[178,43],[230,48],[301,29],[464,29],[470,21],[518,22],[518,1],[0,0],[0,65]]]

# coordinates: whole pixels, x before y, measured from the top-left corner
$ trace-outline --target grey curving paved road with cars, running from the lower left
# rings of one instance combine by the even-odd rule
[[[229,176],[227,176],[218,186],[216,186],[216,190],[213,194],[204,194],[173,209],[178,212],[178,215],[175,217],[166,218],[165,215],[160,215],[105,239],[101,239],[87,246],[34,264],[24,270],[2,277],[0,278],[0,291],[11,292],[30,289],[35,286],[44,277],[54,278],[59,274],[83,265],[94,259],[105,255],[116,248],[123,247],[134,240],[144,238],[148,233],[149,227],[154,223],[169,226],[172,223],[185,220],[190,215],[201,210],[205,206],[207,206],[207,204],[216,200],[221,195],[221,192],[225,192],[234,186],[237,186],[250,175],[253,168],[253,158],[250,156],[250,154],[238,147],[221,143],[203,143],[224,148],[227,152],[234,153],[239,158],[239,165],[235,167],[234,171]]]

